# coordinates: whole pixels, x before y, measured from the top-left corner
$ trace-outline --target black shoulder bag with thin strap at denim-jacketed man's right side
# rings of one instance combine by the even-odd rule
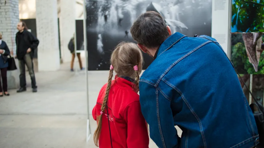
[[[208,38],[206,38],[204,36],[198,36],[198,35],[195,35],[194,37],[202,37],[202,38],[205,38],[207,40],[210,40],[210,41],[212,41],[213,43],[215,43],[217,46],[219,46],[222,49],[222,47],[219,44],[217,44],[217,42],[215,42],[215,41],[213,41],[211,39],[208,39]],[[223,49],[222,49],[222,51],[223,51]],[[225,55],[226,55],[226,53],[225,53]],[[229,60],[228,57],[227,57],[227,59]],[[237,72],[237,70],[236,70],[235,66],[233,65],[233,63],[231,62],[231,60],[229,60],[229,62],[232,64],[232,66],[235,69],[237,75],[242,80],[241,76]],[[249,88],[245,84],[244,80],[242,80],[242,82],[244,83],[245,87],[247,88],[247,90],[249,91],[249,93],[252,96],[253,100],[255,101],[254,103],[250,104],[249,107],[250,107],[250,109],[253,112],[253,115],[254,115],[254,118],[255,118],[255,121],[256,121],[256,125],[257,125],[257,128],[258,128],[259,144],[256,146],[256,148],[264,148],[264,107],[260,103],[258,103],[257,99],[253,96],[252,92],[249,90]],[[255,111],[255,109],[254,109],[255,106],[257,107],[258,111]]]

